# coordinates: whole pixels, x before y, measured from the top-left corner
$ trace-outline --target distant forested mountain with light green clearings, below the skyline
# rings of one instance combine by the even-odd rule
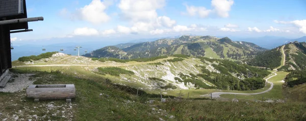
[[[134,45],[131,45],[131,43],[118,44],[116,46],[122,48],[121,54],[116,53],[114,55],[113,50],[107,49],[109,47],[114,47],[108,46],[99,49],[104,51],[96,50],[83,56],[110,57],[111,55],[114,58],[134,59],[183,54],[194,57],[241,60],[266,50],[250,42],[232,41],[228,37],[217,38],[213,36],[186,35],[179,38],[159,39]],[[114,49],[116,50],[115,52],[121,52],[119,48]]]

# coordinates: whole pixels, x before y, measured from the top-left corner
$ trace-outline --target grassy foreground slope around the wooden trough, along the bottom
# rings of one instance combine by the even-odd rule
[[[22,72],[31,72],[15,70]],[[31,72],[33,73],[33,72]],[[3,115],[13,120],[13,114],[21,110],[19,119],[30,119],[28,115],[37,115],[38,120],[67,120],[64,113],[72,112],[72,120],[305,120],[306,104],[304,103],[239,103],[202,100],[171,100],[159,102],[159,98],[136,96],[125,89],[116,88],[104,79],[77,79],[58,72],[34,72],[35,84],[74,84],[77,98],[71,104],[64,100],[46,100],[34,103],[25,97],[25,91],[0,93]],[[103,95],[100,95],[103,93]],[[15,100],[18,98],[18,100]],[[22,102],[19,99],[24,100]],[[8,100],[13,100],[9,101]],[[155,100],[153,104],[145,103]],[[54,109],[48,109],[53,103]],[[16,105],[15,105],[16,104]],[[68,109],[69,105],[73,108]],[[57,107],[59,106],[59,107]],[[65,108],[65,109],[63,109]],[[155,110],[152,110],[155,108]],[[160,109],[160,110],[159,110]],[[62,112],[66,110],[66,112]],[[67,111],[69,110],[69,111]],[[164,111],[166,110],[166,111]],[[34,112],[32,112],[34,111]],[[160,112],[160,113],[159,113]],[[57,115],[52,115],[56,113]],[[44,116],[42,118],[42,116]],[[66,115],[66,117],[62,117]],[[167,115],[167,116],[166,116]],[[173,115],[174,118],[169,118]],[[32,119],[35,119],[34,117]]]

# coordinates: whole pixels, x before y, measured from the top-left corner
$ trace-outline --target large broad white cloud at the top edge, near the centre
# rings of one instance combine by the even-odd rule
[[[165,6],[165,0],[121,0],[118,8],[121,17],[132,21],[155,21],[156,9]]]

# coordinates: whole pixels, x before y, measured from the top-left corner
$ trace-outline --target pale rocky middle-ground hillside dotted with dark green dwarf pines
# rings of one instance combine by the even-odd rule
[[[61,55],[32,60],[32,62],[14,61],[13,64],[21,65],[20,67],[63,65],[65,66],[64,70],[69,70],[66,71],[69,74],[83,75],[84,71],[90,72],[94,77],[108,78],[114,83],[129,84],[144,90],[259,89],[265,86],[263,78],[270,74],[266,70],[228,60],[193,58],[184,55],[173,56],[123,61],[120,59],[94,60],[86,57]],[[78,66],[78,69],[69,69],[71,68],[68,66],[69,64]]]

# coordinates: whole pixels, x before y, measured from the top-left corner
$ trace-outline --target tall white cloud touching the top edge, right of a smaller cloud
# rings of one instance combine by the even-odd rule
[[[233,0],[212,0],[212,6],[214,7],[214,11],[220,17],[228,17],[228,12],[231,11],[231,7],[234,4]]]

